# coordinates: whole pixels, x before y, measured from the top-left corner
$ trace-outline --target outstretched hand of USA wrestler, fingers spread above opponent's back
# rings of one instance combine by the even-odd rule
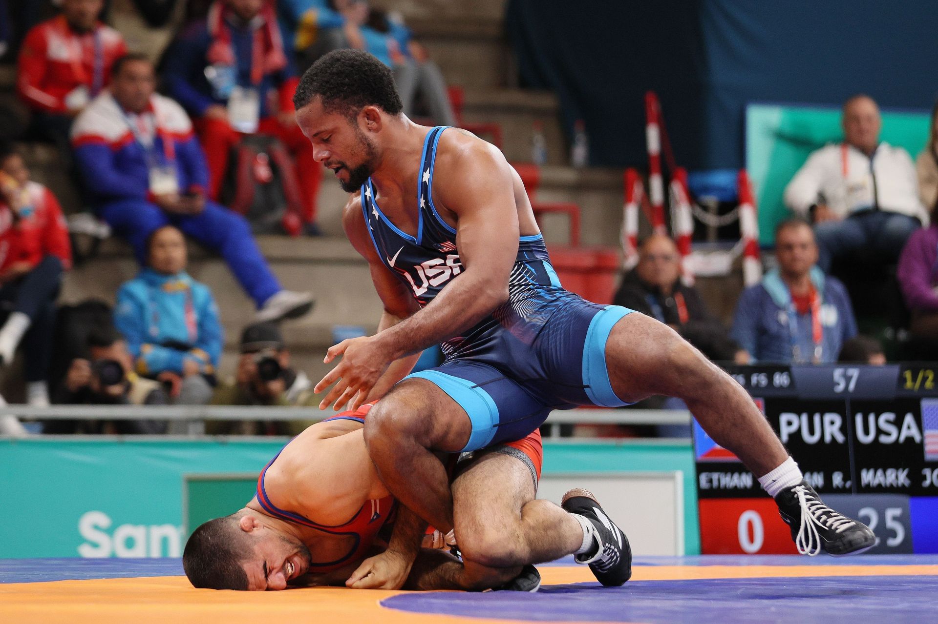
[[[386,349],[381,347],[377,335],[342,340],[326,351],[323,361],[329,364],[339,356],[342,356],[341,362],[313,388],[313,392],[319,394],[331,384],[336,384],[320,402],[319,409],[327,409],[335,403],[338,411],[349,401],[352,401],[349,409],[358,409],[388,364],[394,360],[394,357],[389,357]]]

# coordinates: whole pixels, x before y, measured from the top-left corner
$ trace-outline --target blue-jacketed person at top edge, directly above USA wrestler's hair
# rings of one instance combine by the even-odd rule
[[[340,12],[332,10],[328,0],[280,0],[277,10],[284,32],[292,36],[291,45],[301,72],[320,56],[348,48],[346,31],[356,28]]]

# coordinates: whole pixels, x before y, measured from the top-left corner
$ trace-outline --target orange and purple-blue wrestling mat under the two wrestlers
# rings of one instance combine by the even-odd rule
[[[517,592],[194,589],[179,559],[0,559],[0,622],[938,622],[938,556],[636,557],[624,587],[562,559]]]

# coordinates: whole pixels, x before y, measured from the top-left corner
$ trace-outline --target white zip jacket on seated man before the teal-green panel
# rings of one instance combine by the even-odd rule
[[[785,188],[785,204],[807,215],[815,203],[826,203],[840,217],[878,205],[928,225],[912,158],[885,142],[873,152],[871,167],[869,156],[846,143],[831,143],[811,154]]]

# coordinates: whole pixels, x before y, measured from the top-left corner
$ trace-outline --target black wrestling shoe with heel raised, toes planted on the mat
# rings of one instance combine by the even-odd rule
[[[560,506],[568,513],[582,515],[595,529],[596,551],[576,555],[576,562],[589,564],[599,583],[606,587],[625,584],[632,575],[632,549],[626,534],[602,511],[596,497],[587,490],[574,488],[564,495]]]

